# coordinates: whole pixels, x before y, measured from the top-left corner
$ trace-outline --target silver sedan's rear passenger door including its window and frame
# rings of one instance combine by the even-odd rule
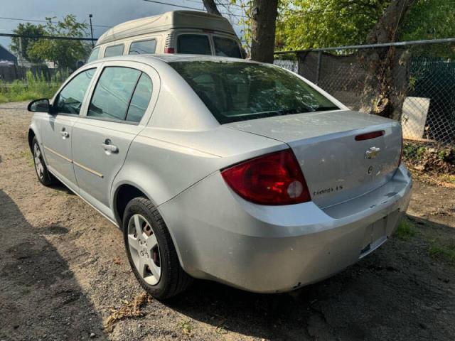
[[[103,65],[84,117],[73,127],[73,159],[80,195],[108,217],[112,181],[156,102],[159,77],[132,62]]]

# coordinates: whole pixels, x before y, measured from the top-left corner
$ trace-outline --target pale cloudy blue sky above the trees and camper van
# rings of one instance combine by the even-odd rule
[[[154,16],[166,11],[176,11],[176,6],[156,4],[144,0],[0,0],[0,33],[12,33],[18,23],[25,21],[8,20],[5,18],[25,18],[29,20],[45,20],[45,17],[56,16],[58,19],[67,14],[74,14],[80,22],[89,22],[89,14],[93,15],[93,25],[115,26],[124,21]],[[202,0],[159,0],[168,4],[189,6],[203,9]],[[228,2],[228,1],[226,1]],[[189,9],[188,9],[189,10]],[[234,9],[235,10],[235,9]],[[238,14],[240,10],[238,10]],[[229,18],[240,34],[239,17]],[[32,23],[34,23],[32,21]],[[93,28],[93,36],[99,37],[107,27]],[[90,36],[90,29],[87,32]],[[10,38],[0,37],[0,44],[9,48]]]

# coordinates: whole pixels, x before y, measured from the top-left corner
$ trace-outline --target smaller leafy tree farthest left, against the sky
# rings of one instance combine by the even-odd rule
[[[34,25],[33,23],[19,23],[18,26],[13,30],[13,33],[20,34],[23,36],[43,36],[44,27],[43,25]],[[28,50],[31,48],[33,43],[36,43],[38,38],[11,38],[11,51],[16,53],[16,55],[21,56],[23,59],[28,60],[32,63],[40,63],[43,60],[41,58],[36,58],[36,56],[31,57],[28,55]]]

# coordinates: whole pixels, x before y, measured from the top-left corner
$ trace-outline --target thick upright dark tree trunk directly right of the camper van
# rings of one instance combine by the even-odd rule
[[[278,0],[253,0],[251,58],[273,63]]]

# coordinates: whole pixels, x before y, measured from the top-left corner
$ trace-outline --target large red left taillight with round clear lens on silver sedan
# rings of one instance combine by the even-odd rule
[[[291,149],[239,163],[221,172],[245,200],[261,205],[291,205],[311,200],[299,163]]]

